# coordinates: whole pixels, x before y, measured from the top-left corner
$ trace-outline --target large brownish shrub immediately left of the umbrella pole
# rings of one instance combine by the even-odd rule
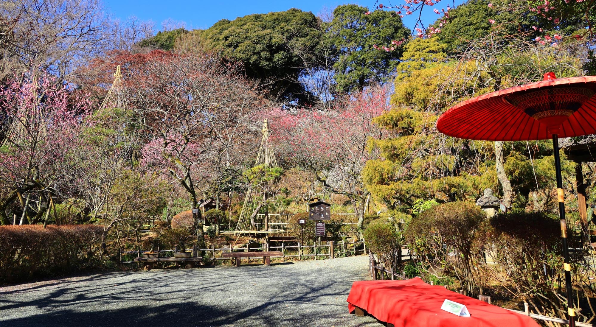
[[[498,214],[482,224],[475,245],[495,263],[484,267],[498,281],[495,292],[532,303],[540,312],[564,306],[552,282],[563,266],[557,218],[544,213]]]

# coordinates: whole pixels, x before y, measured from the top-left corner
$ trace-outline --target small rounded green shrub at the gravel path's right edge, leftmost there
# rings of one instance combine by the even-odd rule
[[[364,230],[364,241],[379,260],[388,268],[399,271],[401,268],[401,235],[393,220],[375,219]]]

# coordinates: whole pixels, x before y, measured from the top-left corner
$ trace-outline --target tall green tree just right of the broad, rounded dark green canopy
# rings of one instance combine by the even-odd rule
[[[370,12],[359,5],[337,7],[328,32],[339,54],[334,68],[337,86],[342,91],[361,90],[370,83],[387,79],[398,65],[403,48],[380,51],[374,45],[390,46],[392,41],[410,34],[394,11]]]

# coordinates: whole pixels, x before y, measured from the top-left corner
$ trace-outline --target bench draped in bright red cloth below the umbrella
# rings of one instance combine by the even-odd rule
[[[441,310],[445,299],[464,304],[470,317]],[[350,313],[359,307],[395,327],[539,327],[528,316],[426,284],[420,278],[354,282],[347,303]]]

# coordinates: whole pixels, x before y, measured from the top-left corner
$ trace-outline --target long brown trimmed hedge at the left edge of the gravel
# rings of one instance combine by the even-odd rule
[[[0,284],[100,265],[103,226],[0,226]]]

